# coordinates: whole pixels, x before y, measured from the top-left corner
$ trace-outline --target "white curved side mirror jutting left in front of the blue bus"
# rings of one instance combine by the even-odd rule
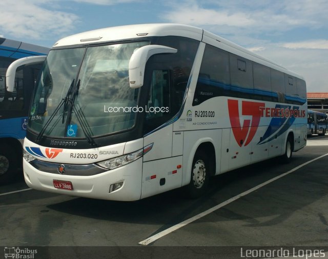
[[[10,64],[7,69],[6,73],[6,87],[8,92],[14,91],[15,85],[15,75],[16,70],[20,66],[24,66],[26,64],[36,64],[36,63],[43,63],[47,56],[31,56],[31,57],[23,57],[15,60]]]

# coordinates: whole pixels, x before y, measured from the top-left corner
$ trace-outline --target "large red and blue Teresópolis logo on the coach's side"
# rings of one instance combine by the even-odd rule
[[[305,111],[300,111],[298,106],[276,104],[276,107],[271,108],[265,107],[264,102],[241,101],[240,114],[238,100],[228,99],[228,110],[232,132],[240,147],[247,146],[253,140],[261,117],[272,118],[262,143],[265,143],[264,139],[269,139],[271,135],[270,126],[284,125],[280,129],[277,128],[278,132],[275,134],[279,136],[288,129],[295,118],[305,117]],[[244,119],[243,124],[240,125],[240,116],[251,116],[251,119]]]

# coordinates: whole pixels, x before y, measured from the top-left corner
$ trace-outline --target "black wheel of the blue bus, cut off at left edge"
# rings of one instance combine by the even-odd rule
[[[0,184],[7,183],[15,178],[19,169],[18,154],[7,145],[0,146]]]

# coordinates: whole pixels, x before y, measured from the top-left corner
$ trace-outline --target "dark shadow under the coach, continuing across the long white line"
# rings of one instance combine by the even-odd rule
[[[302,162],[305,162],[304,157],[299,156],[291,164],[281,166],[277,159],[271,159],[230,171],[212,178],[206,195],[195,200],[185,198],[183,188],[180,188],[135,202],[76,198],[47,207],[97,220],[161,224],[166,229],[279,176]],[[312,172],[311,176],[308,171],[301,170],[296,177],[293,174],[285,176],[245,196],[247,198],[243,197],[220,208],[215,211],[218,216],[216,219],[242,220],[250,226],[278,224],[294,211],[326,196],[327,184],[328,177],[322,170]],[[267,222],[256,220],[268,216],[272,217]]]

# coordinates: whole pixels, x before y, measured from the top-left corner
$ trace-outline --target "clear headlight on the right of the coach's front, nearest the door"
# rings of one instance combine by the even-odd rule
[[[109,160],[105,160],[99,163],[96,163],[97,165],[104,167],[106,169],[112,170],[117,167],[120,167],[122,165],[126,165],[128,163],[131,163],[140,157],[144,156],[147,152],[149,152],[150,149],[152,149],[154,143],[151,143],[148,146],[145,146],[144,148],[141,148],[133,153],[126,154],[123,156],[111,158]]]

